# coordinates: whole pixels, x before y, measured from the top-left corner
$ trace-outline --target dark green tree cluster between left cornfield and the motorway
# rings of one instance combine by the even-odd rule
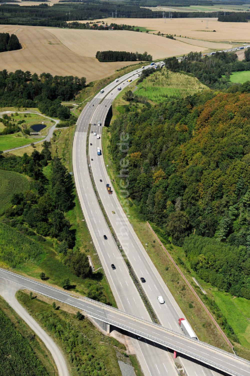
[[[60,159],[52,160],[52,178],[46,179],[43,167],[51,161],[50,143],[43,144],[42,152],[34,150],[31,156],[24,153],[23,157],[0,156],[0,168],[14,170],[30,176],[32,189],[24,193],[14,194],[12,206],[5,215],[14,221],[19,218],[39,235],[57,238],[68,248],[74,246],[74,234],[71,224],[65,218],[64,212],[73,205],[73,192],[70,174],[65,170]],[[13,219],[12,219],[13,218]]]

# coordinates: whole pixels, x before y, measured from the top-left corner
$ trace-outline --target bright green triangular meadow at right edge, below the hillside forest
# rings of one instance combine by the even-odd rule
[[[215,302],[232,326],[242,346],[250,349],[250,300],[212,291]]]

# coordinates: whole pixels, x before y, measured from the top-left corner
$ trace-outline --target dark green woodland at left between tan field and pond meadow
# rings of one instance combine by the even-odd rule
[[[1,107],[37,107],[43,114],[70,118],[70,109],[61,105],[62,101],[74,98],[86,84],[85,77],[52,76],[50,73],[30,74],[17,70],[8,73],[0,71]]]

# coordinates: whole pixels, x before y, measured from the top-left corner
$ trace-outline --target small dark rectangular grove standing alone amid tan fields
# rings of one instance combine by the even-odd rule
[[[147,52],[126,52],[126,51],[97,51],[95,58],[100,62],[111,61],[152,61],[152,55]]]

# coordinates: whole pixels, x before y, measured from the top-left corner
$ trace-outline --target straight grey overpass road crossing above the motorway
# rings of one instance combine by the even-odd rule
[[[138,340],[139,343],[144,344],[143,339],[146,339],[148,343],[152,341],[153,343],[177,350],[187,356],[192,356],[211,366],[220,367],[221,370],[232,376],[250,376],[250,362],[247,360],[198,340],[192,340],[185,335],[171,331],[151,321],[144,320],[103,303],[95,302],[92,299],[74,296],[70,292],[51,287],[50,285],[20,276],[2,268],[0,268],[0,279],[17,284],[20,288],[27,288],[33,292],[56,299],[59,302],[67,303],[84,311],[93,318],[133,333],[141,337]],[[153,358],[150,358],[150,360],[155,362]],[[156,374],[155,370],[154,375]],[[165,370],[165,374],[168,374],[167,370]]]

